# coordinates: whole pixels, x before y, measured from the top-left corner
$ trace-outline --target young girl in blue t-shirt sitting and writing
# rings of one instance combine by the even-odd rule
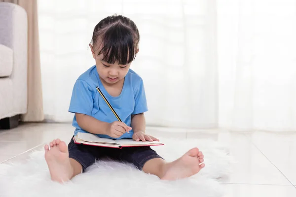
[[[145,133],[144,112],[148,111],[142,78],[130,69],[139,51],[139,31],[127,17],[114,15],[100,21],[93,32],[90,44],[96,65],[90,67],[76,80],[69,111],[74,113],[73,126],[78,132],[90,132],[112,139],[132,138],[136,141],[153,141]],[[122,122],[118,122],[105,100],[96,90],[99,87]],[[122,149],[75,144],[68,147],[55,139],[45,145],[45,160],[53,181],[65,182],[82,173],[97,159],[134,164],[146,173],[160,179],[175,180],[199,172],[203,154],[192,148],[181,158],[167,163],[149,146]]]

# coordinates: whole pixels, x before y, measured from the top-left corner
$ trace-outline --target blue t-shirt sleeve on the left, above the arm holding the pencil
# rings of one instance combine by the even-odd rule
[[[72,92],[69,112],[91,115],[93,108],[92,89],[82,80],[76,80]]]

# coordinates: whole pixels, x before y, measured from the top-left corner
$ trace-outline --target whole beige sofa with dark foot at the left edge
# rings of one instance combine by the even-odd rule
[[[0,128],[27,112],[28,20],[19,5],[0,2]]]

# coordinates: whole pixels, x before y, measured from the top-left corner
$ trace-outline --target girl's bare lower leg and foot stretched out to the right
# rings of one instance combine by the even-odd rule
[[[192,176],[200,171],[205,164],[203,154],[198,148],[192,148],[181,158],[167,163],[161,158],[154,158],[146,162],[143,171],[154,174],[163,180],[176,180]]]

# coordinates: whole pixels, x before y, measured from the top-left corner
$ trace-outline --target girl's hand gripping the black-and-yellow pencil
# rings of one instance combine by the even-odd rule
[[[125,123],[115,121],[108,124],[106,134],[109,135],[110,137],[117,138],[123,135],[125,132],[129,132],[131,130],[132,128],[127,126]]]

